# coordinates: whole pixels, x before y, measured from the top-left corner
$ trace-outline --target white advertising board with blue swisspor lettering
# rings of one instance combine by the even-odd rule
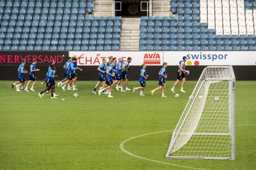
[[[255,51],[177,51],[163,52],[163,62],[178,65],[187,56],[187,66],[255,66]]]

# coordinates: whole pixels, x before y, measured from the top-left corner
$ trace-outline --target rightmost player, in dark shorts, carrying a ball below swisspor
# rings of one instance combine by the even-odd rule
[[[186,72],[185,63],[187,61],[187,57],[183,56],[182,59],[183,60],[180,61],[180,64],[179,64],[179,70],[178,70],[178,73],[177,73],[177,80],[176,80],[175,84],[173,85],[172,89],[170,89],[170,91],[172,91],[173,93],[175,93],[174,89],[175,89],[176,85],[179,84],[180,80],[182,80],[182,88],[180,88],[180,92],[186,93],[183,90],[183,87],[184,87],[184,84],[186,82],[186,78],[185,78],[184,73]]]

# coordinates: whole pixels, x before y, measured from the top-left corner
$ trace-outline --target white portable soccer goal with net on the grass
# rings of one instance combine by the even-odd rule
[[[232,66],[209,66],[195,85],[166,158],[234,160],[236,78]]]

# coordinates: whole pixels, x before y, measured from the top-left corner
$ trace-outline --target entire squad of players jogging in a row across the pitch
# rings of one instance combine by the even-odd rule
[[[84,54],[81,54],[79,57],[73,56],[69,57],[63,68],[65,68],[65,78],[62,79],[62,81],[58,82],[58,87],[62,88],[63,91],[65,91],[65,87],[67,86],[67,90],[73,90],[76,91],[76,81],[77,81],[77,70],[83,71],[83,69],[77,67],[77,60],[83,56]],[[175,93],[175,87],[177,84],[179,84],[180,80],[182,80],[182,88],[180,89],[180,92],[185,93],[183,90],[184,84],[186,82],[185,74],[187,74],[187,71],[185,70],[185,63],[187,61],[187,57],[184,56],[183,60],[179,63],[179,70],[177,71],[177,80],[175,84],[173,85],[172,89],[170,89],[173,93]],[[116,90],[120,92],[126,92],[131,91],[131,89],[128,88],[127,84],[129,81],[128,78],[128,71],[130,70],[129,65],[131,63],[131,57],[128,57],[126,61],[123,60],[123,57],[119,57],[117,60],[113,56],[109,56],[109,61],[106,62],[106,59],[102,59],[102,63],[99,65],[97,70],[99,71],[98,74],[98,82],[95,85],[95,88],[93,90],[93,93],[96,95],[96,89],[102,82],[102,86],[99,88],[98,95],[101,95],[101,93],[108,94],[108,97],[113,97],[111,95],[113,86],[116,85]],[[19,81],[12,84],[12,88],[16,86],[17,91],[22,91],[24,88],[25,80],[24,80],[24,74],[28,73],[27,70],[25,70],[24,65],[26,64],[26,60],[22,60],[22,63],[20,64],[17,71],[19,71],[18,78]],[[35,78],[35,71],[40,71],[40,69],[35,68],[35,64],[37,64],[36,60],[33,60],[33,63],[30,65],[30,73],[29,73],[29,82],[26,85],[26,88],[24,91],[29,92],[28,88],[31,84],[31,81],[33,81],[33,85],[30,88],[30,91],[34,91],[34,86],[37,83],[37,79]],[[145,63],[141,64],[143,68],[140,70],[140,86],[133,88],[133,93],[140,89],[140,96],[144,96],[143,91],[145,89],[146,80],[148,78],[147,71],[145,68],[147,68],[147,65]],[[165,78],[167,78],[166,74],[166,67],[168,66],[168,63],[164,62],[163,67],[159,71],[159,83],[158,87],[153,89],[151,91],[151,95],[154,96],[154,92],[162,89],[162,95],[161,97],[165,96]],[[56,67],[54,60],[51,60],[51,65],[48,68],[47,74],[45,78],[46,88],[38,93],[39,97],[44,97],[45,92],[49,92],[51,90],[51,98],[55,99],[58,97],[55,93],[55,78],[58,77],[56,75]],[[123,89],[123,81],[125,80],[125,90]],[[71,88],[72,84],[72,88]]]

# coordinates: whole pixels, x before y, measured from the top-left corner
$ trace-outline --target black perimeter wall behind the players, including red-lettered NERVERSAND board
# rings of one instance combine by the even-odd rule
[[[30,65],[34,59],[37,60],[36,68],[40,71],[35,73],[37,79],[43,80],[45,74],[48,71],[49,62],[55,60],[56,70],[58,78],[57,81],[61,80],[64,75],[63,65],[67,61],[69,55],[68,51],[0,51],[0,79],[1,80],[13,80],[16,81],[21,60],[26,59],[27,63],[25,69],[29,71]],[[98,80],[98,66],[80,66],[83,71],[78,70],[79,80]],[[148,81],[158,80],[158,72],[162,66],[147,66],[147,74],[149,75]],[[202,70],[206,66],[186,66],[186,70],[190,71],[190,75],[186,76],[187,80],[197,81],[200,77]],[[234,74],[237,80],[256,80],[256,66],[233,66]],[[168,66],[166,68],[166,73],[168,78],[166,79],[175,81],[177,78],[177,66]],[[141,66],[133,66],[130,64],[129,79],[133,81],[138,81],[140,77]],[[24,75],[25,79],[29,79],[29,75]]]

